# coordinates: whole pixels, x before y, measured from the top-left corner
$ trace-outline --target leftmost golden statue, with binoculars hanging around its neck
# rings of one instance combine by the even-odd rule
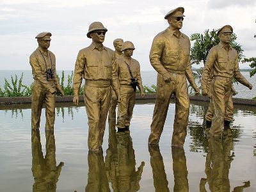
[[[55,120],[55,92],[58,90],[61,96],[59,79],[56,75],[56,60],[54,54],[48,50],[51,42],[51,33],[42,32],[36,36],[38,48],[29,57],[32,68],[32,104],[31,104],[31,128],[39,129],[40,116],[43,103],[45,103],[46,123],[45,129],[54,129]]]

